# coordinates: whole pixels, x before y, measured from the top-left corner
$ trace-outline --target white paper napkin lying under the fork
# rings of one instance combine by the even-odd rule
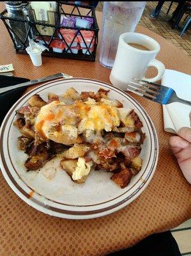
[[[181,99],[191,101],[191,76],[175,70],[166,69],[162,77],[162,85],[174,89],[177,96]],[[164,130],[166,132],[177,133],[181,127],[190,127],[190,106],[174,102],[163,105],[162,107]]]

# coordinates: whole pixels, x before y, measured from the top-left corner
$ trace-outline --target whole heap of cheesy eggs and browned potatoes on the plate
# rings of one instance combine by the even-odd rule
[[[59,156],[74,182],[85,182],[91,170],[104,170],[125,188],[141,170],[145,134],[134,109],[123,108],[108,93],[70,88],[61,96],[49,93],[47,102],[36,94],[18,109],[14,125],[22,134],[17,145],[28,155],[27,170],[39,170]]]

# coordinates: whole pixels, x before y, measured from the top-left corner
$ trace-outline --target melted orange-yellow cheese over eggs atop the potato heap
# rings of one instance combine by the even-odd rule
[[[40,109],[35,130],[43,139],[57,143],[63,143],[66,136],[77,138],[78,134],[87,130],[112,131],[112,128],[119,126],[121,120],[128,121],[125,116],[130,110],[116,108],[111,102],[112,100],[96,102],[88,98],[86,102],[75,100],[73,104],[66,105],[54,100]]]

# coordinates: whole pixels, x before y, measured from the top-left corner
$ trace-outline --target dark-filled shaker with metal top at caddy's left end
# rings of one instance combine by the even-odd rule
[[[8,17],[24,19],[24,13],[22,11],[22,1],[6,1],[4,2]],[[13,39],[15,46],[22,49],[24,47],[24,41],[26,40],[26,26],[25,22],[9,20],[10,27],[13,31]],[[15,35],[14,35],[15,34]]]

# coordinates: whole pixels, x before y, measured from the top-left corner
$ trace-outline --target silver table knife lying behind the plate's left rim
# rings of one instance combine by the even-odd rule
[[[38,84],[38,83],[54,80],[54,79],[61,78],[61,77],[71,78],[72,76],[69,76],[69,75],[63,74],[63,73],[59,73],[59,74],[55,74],[55,75],[52,75],[52,76],[42,77],[42,78],[31,80],[31,81],[26,82],[26,83],[21,83],[21,84],[16,84],[16,85],[11,85],[11,86],[0,88],[0,94],[3,93],[3,92],[8,92],[8,91],[16,89],[16,88],[30,86],[30,85],[33,85],[33,84]]]

